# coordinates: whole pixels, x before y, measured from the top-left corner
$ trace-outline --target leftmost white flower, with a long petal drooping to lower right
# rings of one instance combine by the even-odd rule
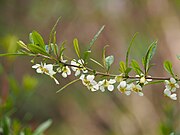
[[[56,84],[59,84],[58,80],[56,80],[56,78],[53,76],[56,74],[56,72],[54,72],[52,64],[41,63],[41,64],[33,65],[32,68],[36,69],[37,73],[40,73],[40,74],[44,73],[46,75],[49,75],[51,78],[54,79]]]

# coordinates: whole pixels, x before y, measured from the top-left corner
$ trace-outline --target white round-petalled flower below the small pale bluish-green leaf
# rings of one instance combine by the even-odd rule
[[[99,88],[102,92],[105,91],[105,89],[107,88],[109,91],[113,91],[114,90],[114,83],[116,82],[116,80],[114,79],[110,79],[109,81],[107,79],[99,81],[98,85]]]

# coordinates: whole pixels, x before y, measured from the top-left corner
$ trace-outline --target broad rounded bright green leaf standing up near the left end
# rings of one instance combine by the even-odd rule
[[[30,33],[30,41],[32,42],[32,44],[37,45],[42,49],[45,49],[44,40],[37,31],[33,31],[32,33]]]

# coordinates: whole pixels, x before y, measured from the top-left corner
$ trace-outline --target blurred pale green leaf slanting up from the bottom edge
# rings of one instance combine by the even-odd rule
[[[36,130],[34,131],[33,135],[42,135],[42,133],[47,130],[47,128],[49,128],[49,126],[52,124],[52,120],[49,119],[47,121],[45,121],[44,123],[42,123],[41,125],[39,125]]]

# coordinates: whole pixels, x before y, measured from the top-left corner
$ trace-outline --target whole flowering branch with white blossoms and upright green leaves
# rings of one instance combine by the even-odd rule
[[[57,21],[58,22],[58,21]],[[152,68],[153,64],[151,64],[151,60],[155,54],[157,48],[157,41],[152,42],[147,49],[145,56],[142,58],[141,68],[140,64],[132,59],[129,59],[131,46],[134,43],[135,37],[137,33],[133,36],[128,50],[126,52],[126,60],[119,62],[119,74],[110,73],[111,65],[114,62],[114,56],[106,56],[106,48],[105,46],[102,50],[102,63],[91,58],[92,47],[94,42],[97,40],[100,33],[103,31],[105,26],[102,26],[101,29],[95,34],[94,38],[91,40],[88,49],[81,52],[79,48],[78,39],[75,38],[73,40],[73,45],[75,52],[77,54],[78,59],[66,60],[64,52],[65,52],[65,42],[61,45],[57,45],[56,43],[56,31],[55,27],[53,27],[50,37],[49,44],[46,45],[42,36],[33,31],[30,33],[30,43],[25,44],[22,41],[18,41],[21,49],[16,54],[0,54],[0,56],[8,56],[8,55],[27,55],[33,57],[31,62],[34,63],[36,57],[42,58],[42,62],[40,64],[35,64],[32,68],[36,69],[36,72],[39,74],[46,74],[54,79],[56,84],[59,84],[58,79],[56,79],[57,74],[61,74],[62,77],[67,78],[69,75],[74,72],[76,77],[75,80],[72,80],[64,87],[62,87],[57,92],[65,89],[67,86],[77,82],[82,81],[82,84],[85,85],[91,91],[102,91],[105,90],[113,91],[115,87],[126,95],[130,95],[132,92],[138,94],[139,96],[143,96],[143,88],[146,85],[155,84],[155,83],[164,83],[164,95],[169,97],[172,100],[177,100],[176,89],[179,88],[179,84],[177,83],[180,79],[175,75],[172,64],[169,61],[164,62],[164,69],[171,75],[171,77],[152,77],[149,76],[149,71]],[[82,55],[83,54],[83,55]],[[46,64],[46,61],[51,61],[51,64]],[[90,68],[87,66],[88,62],[92,61],[98,66],[102,67],[105,72],[97,71],[96,69]],[[134,73],[135,75],[130,75],[130,73]],[[100,76],[99,79],[97,76]],[[98,79],[98,81],[96,80]]]

